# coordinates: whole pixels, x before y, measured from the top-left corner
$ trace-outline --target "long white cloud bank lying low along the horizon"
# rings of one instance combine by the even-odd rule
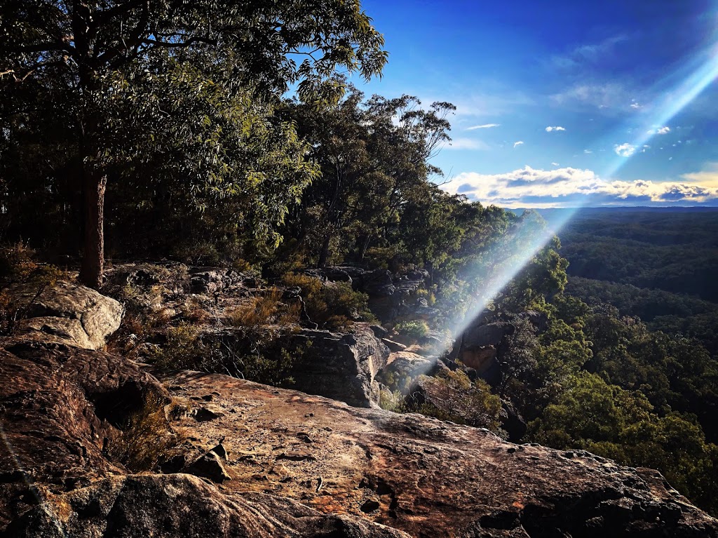
[[[688,179],[688,178],[686,178]],[[694,182],[605,181],[592,170],[524,167],[505,174],[462,172],[442,189],[505,208],[579,205],[718,205],[718,187]]]

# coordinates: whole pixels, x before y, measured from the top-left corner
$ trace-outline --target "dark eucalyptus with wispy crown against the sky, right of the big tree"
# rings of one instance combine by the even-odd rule
[[[340,103],[292,110],[312,144],[321,177],[304,195],[299,239],[319,266],[332,254],[363,259],[368,246],[386,246],[411,200],[424,198],[429,160],[449,139],[450,103],[422,108],[412,96],[387,99],[352,88]],[[396,248],[401,249],[398,241]]]

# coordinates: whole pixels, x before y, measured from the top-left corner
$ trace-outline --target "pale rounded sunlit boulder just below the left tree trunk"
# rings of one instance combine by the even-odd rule
[[[16,331],[28,338],[99,349],[122,321],[122,305],[94,289],[57,282],[37,292],[27,287],[10,289],[20,304],[28,305]]]

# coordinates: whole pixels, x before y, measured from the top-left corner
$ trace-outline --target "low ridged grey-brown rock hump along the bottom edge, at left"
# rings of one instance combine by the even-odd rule
[[[189,475],[113,476],[14,522],[3,538],[409,538],[259,493],[228,497]]]

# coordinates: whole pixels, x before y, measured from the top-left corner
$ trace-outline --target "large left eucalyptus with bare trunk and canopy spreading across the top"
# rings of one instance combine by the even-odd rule
[[[209,136],[179,140],[188,152],[180,159],[204,162],[197,173],[225,193],[242,190],[220,186],[237,161],[223,158],[231,151],[223,127],[241,122],[228,103],[239,95],[245,104],[256,99],[272,106],[290,85],[307,101],[337,99],[342,85],[332,73],[370,78],[385,62],[383,37],[358,0],[6,0],[0,6],[0,98],[32,83],[40,93],[60,93],[55,103],[70,116],[68,142],[81,162],[84,200],[80,277],[93,287],[103,272],[108,170],[118,156],[123,163],[146,161],[156,149],[151,140],[128,147],[129,134],[157,131],[159,124],[179,139],[187,136],[187,118],[177,116],[182,103],[197,97],[199,108],[222,108],[201,116],[220,123]],[[173,110],[162,108],[168,101]],[[22,106],[12,113],[41,120]],[[128,113],[133,126],[124,131]],[[291,137],[291,129],[282,129]],[[245,124],[238,132],[249,130]]]

